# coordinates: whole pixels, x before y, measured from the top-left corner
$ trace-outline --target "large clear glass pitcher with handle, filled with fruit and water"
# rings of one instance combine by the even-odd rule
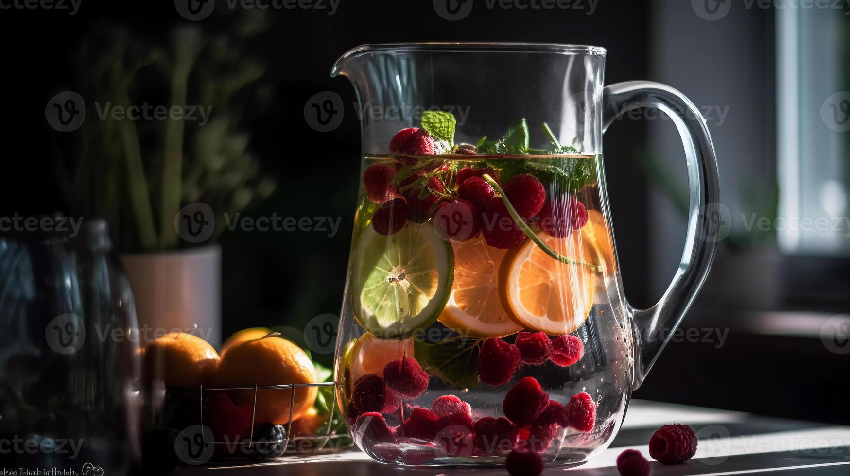
[[[605,49],[365,45],[362,167],[338,333],[338,401],[381,462],[586,462],[620,428],[714,257],[717,163],[700,112],[654,82],[603,86]],[[624,297],[602,136],[671,116],[688,162],[682,263],[660,302]]]

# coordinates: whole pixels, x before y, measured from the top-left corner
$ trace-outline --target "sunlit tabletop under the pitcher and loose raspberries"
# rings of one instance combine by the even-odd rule
[[[677,422],[690,425],[701,440],[696,455],[681,465],[664,466],[649,457],[647,443],[660,425]],[[713,410],[632,400],[620,433],[607,450],[591,462],[570,469],[549,468],[544,476],[567,473],[569,476],[619,474],[615,459],[622,450],[640,450],[655,476],[700,474],[842,475],[850,474],[850,427],[825,423],[783,420],[754,416],[738,411]],[[467,475],[504,476],[501,468],[405,468],[372,461],[360,450],[336,454],[285,456],[272,462],[246,465],[229,463],[200,467],[181,467],[178,476],[367,476],[379,471],[407,473],[411,476]],[[564,476],[567,476],[565,474]],[[399,475],[400,476],[400,475]]]

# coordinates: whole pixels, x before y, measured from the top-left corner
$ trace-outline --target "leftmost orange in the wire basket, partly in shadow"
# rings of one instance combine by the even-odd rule
[[[218,361],[215,348],[201,337],[171,332],[144,348],[144,380],[161,380],[167,387],[209,385]]]

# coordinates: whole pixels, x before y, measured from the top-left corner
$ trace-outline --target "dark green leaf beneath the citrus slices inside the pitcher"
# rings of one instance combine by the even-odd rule
[[[413,352],[419,363],[446,385],[466,390],[479,384],[478,354],[483,339],[452,339],[440,343],[416,340]]]

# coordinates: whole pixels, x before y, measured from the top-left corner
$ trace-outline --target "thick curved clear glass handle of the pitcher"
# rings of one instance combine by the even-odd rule
[[[711,136],[697,107],[679,93],[658,82],[619,82],[603,92],[603,133],[632,109],[655,107],[676,124],[688,161],[688,235],[682,262],[660,301],[649,309],[627,305],[634,332],[634,378],[637,389],[682,321],[706,280],[717,246],[720,228],[717,156]]]

